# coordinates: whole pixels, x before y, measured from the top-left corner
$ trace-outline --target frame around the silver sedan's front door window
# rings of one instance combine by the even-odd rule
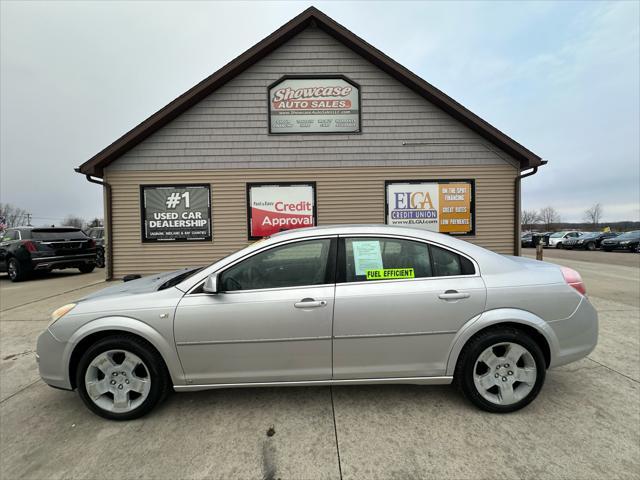
[[[336,284],[336,270],[337,270],[337,266],[338,266],[338,255],[337,255],[337,250],[338,250],[338,236],[337,235],[322,235],[322,236],[318,236],[318,237],[305,237],[305,238],[296,238],[293,240],[289,240],[286,242],[280,242],[280,243],[276,243],[274,245],[269,245],[266,246],[265,248],[261,248],[260,250],[257,250],[255,252],[251,252],[248,255],[245,255],[244,257],[238,258],[235,261],[229,263],[228,265],[225,265],[224,267],[220,268],[220,270],[217,270],[216,272],[212,272],[210,275],[216,275],[218,278],[227,270],[229,270],[230,268],[234,267],[235,265],[244,262],[245,260],[249,260],[252,257],[255,257],[256,255],[260,255],[262,253],[265,253],[269,250],[273,250],[275,248],[280,248],[283,247],[285,245],[291,245],[291,244],[295,244],[295,243],[303,243],[303,242],[309,242],[309,241],[317,241],[317,240],[329,240],[329,254],[327,255],[327,272],[326,272],[326,277],[328,277],[330,279],[330,283],[321,283],[321,284],[316,284],[316,285],[296,285],[294,287],[271,287],[271,288],[254,288],[254,289],[250,289],[250,290],[231,290],[231,291],[220,291],[218,294],[224,294],[224,295],[237,295],[237,294],[243,294],[243,293],[249,293],[249,292],[269,292],[269,291],[279,291],[279,290],[295,290],[295,289],[302,289],[302,288],[313,288],[313,287],[326,287],[326,286],[332,286]],[[331,281],[332,280],[332,281]],[[204,283],[207,281],[207,277],[205,277],[201,282],[198,282],[193,288],[191,288],[191,290],[189,290],[189,292],[187,292],[187,295],[206,295],[206,296],[211,296],[210,293],[204,293],[199,291],[202,286],[204,285]]]

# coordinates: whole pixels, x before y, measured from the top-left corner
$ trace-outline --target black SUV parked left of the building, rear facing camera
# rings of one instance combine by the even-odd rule
[[[89,273],[95,266],[96,242],[79,228],[10,228],[0,239],[0,272],[14,282],[35,271],[78,268]]]

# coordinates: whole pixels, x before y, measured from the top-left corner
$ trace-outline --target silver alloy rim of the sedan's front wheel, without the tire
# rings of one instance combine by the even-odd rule
[[[107,350],[91,361],[84,382],[87,395],[98,407],[127,413],[149,396],[151,375],[137,355],[126,350]]]

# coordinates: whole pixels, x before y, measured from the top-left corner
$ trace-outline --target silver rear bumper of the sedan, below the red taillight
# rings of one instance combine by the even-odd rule
[[[589,355],[598,344],[598,312],[587,297],[569,318],[548,322],[558,339],[551,367],[575,362]]]

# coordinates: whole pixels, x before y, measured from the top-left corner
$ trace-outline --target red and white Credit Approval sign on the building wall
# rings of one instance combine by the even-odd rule
[[[247,184],[249,238],[316,224],[316,184]]]

